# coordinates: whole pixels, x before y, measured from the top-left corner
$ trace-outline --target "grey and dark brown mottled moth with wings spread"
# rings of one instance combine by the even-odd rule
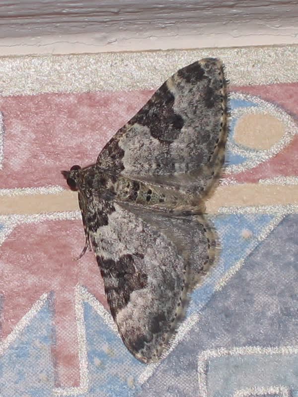
[[[216,259],[205,202],[217,185],[227,138],[227,82],[202,59],[166,80],[105,145],[96,164],[62,171],[78,192],[85,246],[128,350],[158,360],[192,289]]]

